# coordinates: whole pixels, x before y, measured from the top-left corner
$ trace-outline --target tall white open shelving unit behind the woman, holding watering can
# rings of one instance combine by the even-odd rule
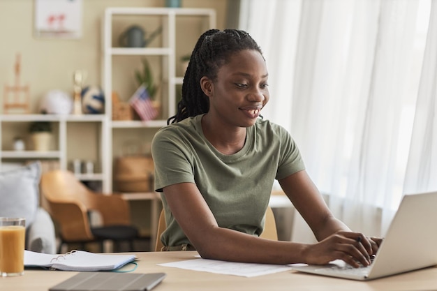
[[[161,35],[153,40],[147,47],[120,47],[117,43],[121,31],[127,29],[130,25],[137,24],[145,27],[145,31],[154,31],[158,27],[162,28]],[[117,73],[116,58],[133,58],[138,59],[140,64],[141,58],[158,60],[151,66],[154,70],[155,81],[158,82],[161,93],[158,98],[161,101],[161,116],[158,120],[152,121],[113,121],[111,120],[112,104],[105,104],[105,112],[108,112],[108,133],[105,135],[107,149],[110,154],[106,156],[105,165],[112,169],[114,158],[119,155],[120,150],[114,149],[117,144],[117,130],[126,134],[126,130],[131,130],[132,135],[138,135],[142,128],[150,132],[156,132],[158,128],[166,125],[168,117],[176,112],[177,90],[183,82],[182,72],[177,73],[177,60],[182,54],[191,53],[201,33],[207,29],[212,29],[216,25],[216,12],[214,9],[204,8],[107,8],[103,20],[103,89],[105,96],[112,96],[113,91],[119,93],[115,84],[114,75]],[[150,29],[146,29],[150,28]],[[146,35],[147,38],[147,35]],[[185,47],[185,48],[184,48]],[[158,72],[158,73],[156,73]],[[126,72],[127,79],[123,84],[133,82],[131,72]],[[125,96],[124,102],[133,94],[136,87],[133,85],[128,93],[120,94]],[[126,98],[126,96],[128,96]],[[146,139],[151,137],[146,137]],[[105,185],[103,188],[108,191],[117,191],[113,189],[112,171],[108,171],[107,177],[103,179]]]

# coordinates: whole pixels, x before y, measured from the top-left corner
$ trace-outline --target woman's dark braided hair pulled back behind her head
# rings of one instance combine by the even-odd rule
[[[218,69],[226,64],[232,54],[242,50],[256,50],[262,54],[258,44],[246,31],[237,29],[205,31],[191,53],[177,113],[167,120],[167,124],[207,113],[209,99],[200,87],[200,79],[206,76],[212,81],[216,80]]]

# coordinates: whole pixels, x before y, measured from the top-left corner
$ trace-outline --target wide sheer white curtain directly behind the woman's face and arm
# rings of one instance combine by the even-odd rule
[[[334,214],[369,235],[385,233],[403,193],[422,2],[242,1],[240,27],[270,73],[263,115],[290,130]],[[299,217],[292,239],[313,240]]]

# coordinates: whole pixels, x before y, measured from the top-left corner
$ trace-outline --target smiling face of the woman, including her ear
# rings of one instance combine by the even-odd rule
[[[242,50],[232,54],[218,69],[215,81],[207,77],[202,78],[204,83],[201,80],[209,97],[208,114],[232,126],[252,126],[269,101],[267,79],[267,66],[259,52]]]

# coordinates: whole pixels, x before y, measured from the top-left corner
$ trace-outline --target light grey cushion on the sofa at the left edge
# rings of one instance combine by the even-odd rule
[[[26,227],[35,219],[39,204],[40,163],[0,173],[0,216],[24,217]]]

